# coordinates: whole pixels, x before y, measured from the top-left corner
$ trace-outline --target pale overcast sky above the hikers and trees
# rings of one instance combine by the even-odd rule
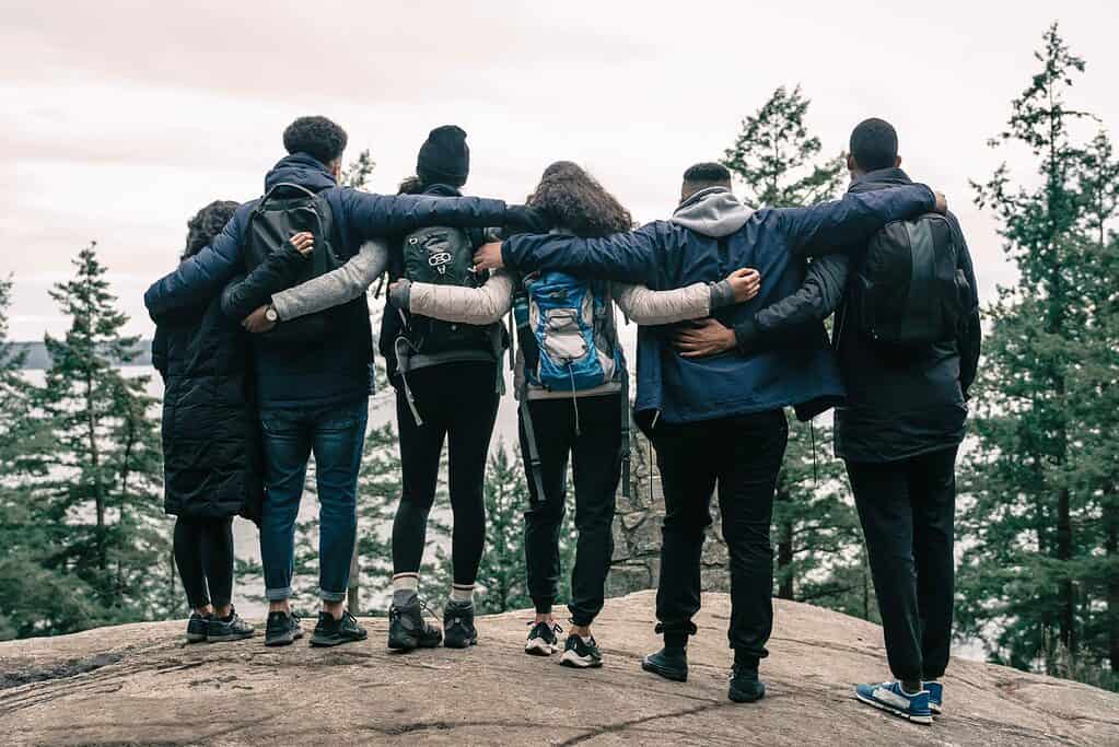
[[[968,179],[1003,158],[1028,176],[1021,153],[986,141],[1052,20],[1088,60],[1073,101],[1119,126],[1119,10],[1106,0],[171,4],[0,0],[15,339],[64,329],[47,290],[91,239],[130,329],[150,333],[141,296],[173,268],[187,218],[258,196],[300,114],[341,123],[350,155],[373,151],[376,191],[412,173],[431,127],[455,123],[468,192],[519,201],[571,159],[643,221],[673,209],[683,170],[718,158],[774,87],[799,83],[828,152],[866,116],[894,123],[911,176],[959,214],[987,299],[1013,275]]]

